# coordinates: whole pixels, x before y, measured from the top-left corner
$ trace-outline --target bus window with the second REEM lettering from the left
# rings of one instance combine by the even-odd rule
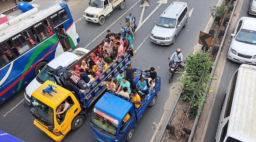
[[[44,27],[43,21],[37,23],[36,25],[33,25],[32,27],[34,28],[40,41],[43,41],[44,39],[46,39],[48,37],[48,32],[46,31],[46,29]]]

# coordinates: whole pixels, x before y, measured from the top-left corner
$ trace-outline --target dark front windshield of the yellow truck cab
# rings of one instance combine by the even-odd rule
[[[37,117],[41,123],[53,125],[53,109],[35,97],[31,97],[30,110],[34,117]]]

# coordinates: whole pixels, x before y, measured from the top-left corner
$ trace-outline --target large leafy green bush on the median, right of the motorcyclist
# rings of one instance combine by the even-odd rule
[[[196,52],[195,54],[190,53],[186,60],[183,61],[184,72],[182,72],[182,74],[184,74],[184,76],[180,78],[180,82],[186,84],[182,91],[184,94],[184,100],[190,101],[196,91],[196,96],[193,99],[190,109],[190,113],[192,114],[190,117],[196,117],[198,110],[203,105],[201,101],[205,101],[205,98],[203,97],[204,94],[207,93],[205,89],[209,88],[206,83],[208,80],[215,79],[210,76],[210,67],[215,66],[215,64],[208,56],[209,53],[207,52]],[[203,72],[204,68],[205,72]],[[202,80],[199,82],[199,86],[196,90],[196,86],[202,74]]]

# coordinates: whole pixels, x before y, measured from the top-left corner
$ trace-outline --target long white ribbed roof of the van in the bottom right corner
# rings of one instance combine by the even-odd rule
[[[239,67],[227,136],[256,142],[256,66]]]

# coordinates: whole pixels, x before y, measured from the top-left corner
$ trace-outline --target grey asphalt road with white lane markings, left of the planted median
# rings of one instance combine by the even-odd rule
[[[127,0],[124,10],[116,8],[110,13],[110,16],[106,18],[105,24],[102,26],[99,24],[87,23],[82,18],[84,10],[88,7],[88,2],[88,0],[68,1],[69,9],[72,12],[73,19],[75,22],[77,21],[76,29],[80,37],[80,43],[76,47],[86,46],[86,49],[91,50],[105,37],[107,34],[106,31],[108,29],[110,29],[111,32],[120,32],[120,23],[124,23],[124,17],[128,16],[129,13],[132,13],[132,15],[136,17],[136,23],[139,23],[142,7],[140,7],[140,2],[137,0]],[[159,3],[156,2],[157,1],[148,0],[149,6],[145,7],[142,21],[144,21],[150,15],[150,13],[156,9],[157,6],[159,6]],[[156,45],[150,41],[148,35],[155,25],[154,21],[159,18],[160,14],[172,2],[173,1],[168,0],[167,4],[161,4],[159,8],[157,8],[149,18],[147,18],[140,29],[136,31],[135,39],[132,40],[134,50],[139,47],[139,49],[136,51],[137,55],[132,60],[132,67],[136,67],[142,70],[149,69],[149,67],[155,67],[157,75],[162,77],[162,84],[161,91],[159,91],[157,94],[158,97],[156,104],[153,107],[148,107],[147,110],[145,110],[143,117],[140,119],[137,127],[134,129],[135,133],[131,139],[131,142],[149,142],[151,140],[152,135],[155,132],[153,130],[152,124],[159,123],[165,111],[164,105],[169,97],[170,84],[168,83],[169,72],[167,57],[170,57],[171,54],[177,50],[177,48],[182,49],[181,53],[183,54],[184,58],[190,52],[194,51],[194,46],[198,43],[199,32],[204,31],[205,26],[211,17],[209,7],[216,5],[218,0],[184,0],[183,2],[188,4],[188,11],[194,8],[192,16],[188,18],[188,25],[180,31],[173,45]],[[172,83],[175,83],[175,80],[178,77],[180,76],[175,75]],[[53,142],[50,137],[44,134],[43,131],[39,130],[33,124],[34,118],[28,111],[26,111],[26,108],[22,105],[22,103],[20,103],[24,98],[24,90],[25,88],[21,89],[18,93],[1,104],[0,129],[26,142]],[[172,94],[170,97],[176,99],[177,95]],[[93,141],[91,138],[89,118],[95,103],[96,102],[94,102],[92,107],[87,111],[88,118],[86,118],[86,121],[82,127],[77,131],[69,131],[65,138],[62,140],[63,142]],[[17,107],[15,107],[16,105]]]

